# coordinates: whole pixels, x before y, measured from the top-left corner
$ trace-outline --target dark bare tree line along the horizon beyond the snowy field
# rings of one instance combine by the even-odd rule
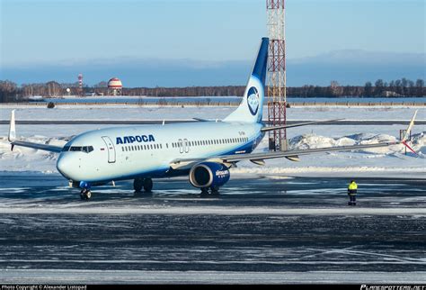
[[[69,88],[69,92],[67,92]],[[148,96],[229,96],[244,95],[245,86],[186,86],[186,87],[124,87],[122,95]],[[62,83],[49,81],[40,84],[22,84],[18,86],[9,80],[0,80],[0,102],[25,101],[29,96],[60,97],[63,95],[80,95],[93,93],[108,95],[106,82],[94,86],[84,85],[80,91],[77,83]],[[415,82],[406,78],[385,82],[377,79],[373,84],[367,82],[364,86],[341,86],[332,81],[330,86],[289,86],[288,97],[421,97],[426,96],[423,79]]]

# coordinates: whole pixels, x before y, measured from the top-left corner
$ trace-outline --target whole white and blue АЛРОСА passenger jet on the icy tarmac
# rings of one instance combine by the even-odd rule
[[[81,189],[82,200],[92,197],[92,186],[134,180],[135,192],[151,192],[152,178],[188,176],[200,195],[218,195],[230,178],[229,168],[250,160],[263,165],[266,159],[297,160],[300,155],[319,152],[361,150],[406,143],[417,111],[403,140],[367,145],[329,147],[311,150],[281,150],[252,153],[267,131],[331,122],[304,122],[266,126],[262,122],[268,38],[262,38],[244,97],[233,113],[223,120],[171,124],[133,125],[85,131],[63,147],[16,139],[14,110],[8,140],[14,146],[58,153],[58,172],[70,186]],[[414,152],[414,151],[413,151]],[[415,152],[414,152],[415,153]]]

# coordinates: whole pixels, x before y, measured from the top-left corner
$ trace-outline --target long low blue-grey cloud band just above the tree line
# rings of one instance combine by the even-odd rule
[[[328,86],[363,85],[378,78],[425,78],[426,54],[366,50],[336,50],[314,57],[288,59],[288,86],[306,84]],[[73,83],[79,73],[84,83],[94,85],[120,77],[124,86],[243,86],[252,60],[210,61],[194,59],[66,59],[55,64],[37,63],[4,66],[0,79],[19,84],[47,82]]]

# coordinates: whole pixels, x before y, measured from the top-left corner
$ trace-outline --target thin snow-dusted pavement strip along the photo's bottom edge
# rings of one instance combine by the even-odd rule
[[[140,271],[76,269],[5,269],[0,279],[10,284],[422,284],[424,272],[253,272]]]

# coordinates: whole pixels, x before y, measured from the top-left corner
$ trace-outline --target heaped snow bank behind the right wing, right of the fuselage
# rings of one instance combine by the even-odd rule
[[[406,176],[407,173],[417,177],[426,175],[426,136],[425,132],[413,135],[411,145],[419,155],[411,151],[405,155],[404,145],[395,145],[376,149],[365,149],[349,152],[317,153],[301,156],[299,162],[288,159],[266,160],[266,166],[259,167],[245,161],[232,168],[233,175],[319,175],[319,176],[371,176],[374,174]],[[396,141],[395,136],[387,134],[359,133],[337,138],[324,137],[308,133],[298,135],[288,140],[290,149],[307,150],[332,146],[347,146],[356,144],[372,144],[377,142]],[[257,152],[268,150],[268,140],[265,138],[255,150]]]

